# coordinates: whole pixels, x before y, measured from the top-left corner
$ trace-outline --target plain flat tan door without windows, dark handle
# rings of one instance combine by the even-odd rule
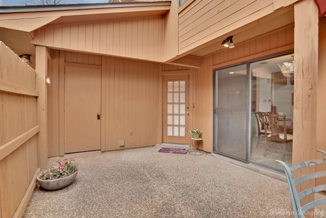
[[[100,150],[101,70],[65,68],[65,153]]]

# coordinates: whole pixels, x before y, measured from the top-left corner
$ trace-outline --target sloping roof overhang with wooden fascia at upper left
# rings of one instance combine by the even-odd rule
[[[0,7],[0,27],[32,32],[46,24],[162,16],[171,2]]]

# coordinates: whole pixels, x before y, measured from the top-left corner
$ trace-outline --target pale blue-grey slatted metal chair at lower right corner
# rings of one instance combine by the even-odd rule
[[[321,151],[321,150],[317,150],[317,151],[326,156],[326,152]],[[293,171],[301,170],[303,168],[314,166],[314,165],[320,165],[322,163],[326,163],[326,158],[308,160],[305,162],[297,163],[296,165],[293,165],[291,167],[286,165],[286,163],[281,160],[276,160],[276,162],[280,163],[280,165],[284,168],[287,183],[289,186],[291,203],[292,203],[292,208],[293,208],[293,213],[294,213],[295,218],[305,217],[305,212],[308,211],[309,209],[316,207],[318,205],[321,205],[321,204],[326,204],[326,197],[308,202],[305,205],[301,205],[301,202],[300,202],[301,199],[303,199],[304,197],[306,197],[308,195],[311,195],[311,194],[317,193],[317,192],[321,192],[322,190],[326,190],[326,184],[310,187],[308,189],[302,190],[301,193],[297,193],[297,191],[296,191],[296,185],[299,185],[299,184],[301,184],[305,181],[311,180],[311,179],[324,177],[324,176],[326,176],[326,171],[310,173],[307,175],[300,176],[296,179],[294,179],[293,175],[292,175]]]

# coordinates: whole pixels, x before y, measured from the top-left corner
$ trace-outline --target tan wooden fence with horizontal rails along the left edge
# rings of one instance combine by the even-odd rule
[[[21,216],[36,184],[35,75],[0,41],[0,217]]]

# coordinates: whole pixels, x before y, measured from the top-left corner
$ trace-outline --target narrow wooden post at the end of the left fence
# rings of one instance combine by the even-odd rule
[[[40,132],[37,138],[38,167],[47,167],[47,91],[45,76],[47,75],[47,49],[44,46],[36,46],[36,89],[39,96],[36,103],[37,124]]]

